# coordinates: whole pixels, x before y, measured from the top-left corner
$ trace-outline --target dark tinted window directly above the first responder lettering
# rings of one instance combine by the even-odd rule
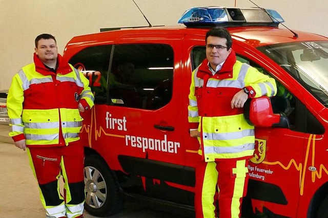
[[[173,49],[169,45],[115,45],[109,103],[156,110],[172,98]]]

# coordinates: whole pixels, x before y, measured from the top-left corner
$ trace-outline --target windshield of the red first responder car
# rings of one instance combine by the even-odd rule
[[[328,42],[303,41],[259,47],[328,107]]]

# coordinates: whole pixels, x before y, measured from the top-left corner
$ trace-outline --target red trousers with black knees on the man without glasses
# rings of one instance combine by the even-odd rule
[[[68,146],[28,147],[27,151],[47,217],[77,217],[83,214],[83,145],[77,141]],[[60,176],[65,183],[64,196],[59,192]]]

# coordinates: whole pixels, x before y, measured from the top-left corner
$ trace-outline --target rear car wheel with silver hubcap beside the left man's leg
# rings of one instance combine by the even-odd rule
[[[118,213],[123,201],[113,173],[107,163],[97,155],[85,158],[85,209],[94,216]]]

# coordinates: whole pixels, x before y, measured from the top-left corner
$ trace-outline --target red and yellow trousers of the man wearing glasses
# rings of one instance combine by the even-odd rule
[[[217,217],[216,200],[220,218],[240,217],[241,201],[246,195],[249,178],[247,166],[248,160],[236,159],[197,163],[196,218]]]

